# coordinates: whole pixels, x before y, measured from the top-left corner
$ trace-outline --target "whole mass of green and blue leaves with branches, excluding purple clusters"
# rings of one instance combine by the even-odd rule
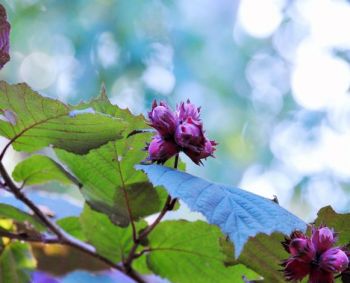
[[[174,162],[184,169],[178,156],[164,166],[140,165],[150,133],[129,133],[146,129],[147,122],[112,105],[103,89],[72,106],[27,85],[1,82],[0,110],[0,132],[9,139],[0,155],[2,187],[30,209],[0,203],[1,282],[30,282],[34,268],[62,275],[110,267],[136,282],[147,280],[140,274],[178,283],[283,282],[278,269],[286,256],[279,242],[295,229],[306,230],[306,223],[272,200],[169,168]],[[26,153],[53,150],[19,162],[12,180],[1,160],[10,145]],[[79,216],[55,222],[27,197],[29,186],[52,181],[79,187]],[[178,199],[207,222],[162,221]],[[326,207],[316,223],[334,227],[340,243],[349,244],[349,214]],[[59,259],[65,264],[57,266]]]

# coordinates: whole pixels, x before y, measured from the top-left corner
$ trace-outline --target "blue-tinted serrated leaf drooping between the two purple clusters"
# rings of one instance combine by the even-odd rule
[[[275,202],[250,192],[214,184],[188,173],[160,165],[137,165],[155,186],[164,186],[172,197],[180,198],[208,222],[218,225],[241,253],[249,237],[258,233],[289,234],[306,230],[306,223]]]

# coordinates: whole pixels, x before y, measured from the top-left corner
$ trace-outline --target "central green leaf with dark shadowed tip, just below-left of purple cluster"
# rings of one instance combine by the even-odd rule
[[[79,181],[84,184],[82,193],[97,211],[107,214],[113,223],[129,224],[126,199],[134,220],[161,210],[166,192],[155,189],[147,177],[136,171],[135,164],[146,158],[142,150],[149,135],[135,135],[117,142],[110,142],[86,155],[76,155],[56,150]]]

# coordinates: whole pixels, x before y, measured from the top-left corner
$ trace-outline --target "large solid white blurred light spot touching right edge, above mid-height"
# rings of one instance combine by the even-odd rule
[[[350,85],[347,63],[322,52],[312,43],[299,46],[297,56],[292,90],[298,104],[322,110],[346,93]]]

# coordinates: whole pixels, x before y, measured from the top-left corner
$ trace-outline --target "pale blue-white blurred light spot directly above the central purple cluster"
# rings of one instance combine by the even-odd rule
[[[175,86],[174,74],[159,65],[149,65],[142,79],[149,88],[164,95],[170,94]]]

